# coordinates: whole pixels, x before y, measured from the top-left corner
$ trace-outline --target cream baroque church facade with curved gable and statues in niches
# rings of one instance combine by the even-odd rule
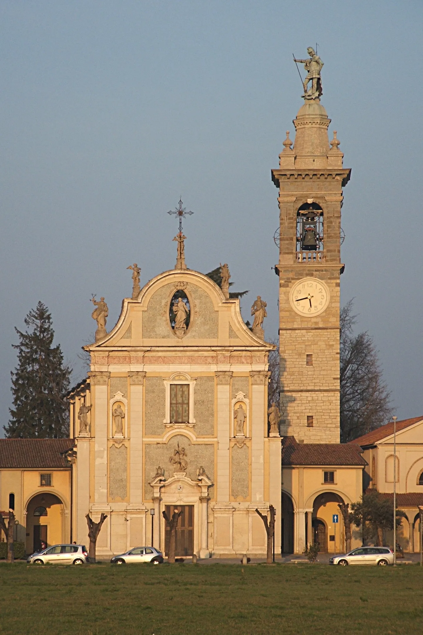
[[[117,324],[86,347],[91,371],[70,394],[72,523],[84,542],[87,512],[107,514],[99,556],[141,544],[166,552],[162,512],[174,509],[179,556],[266,552],[255,510],[280,509],[281,439],[268,429],[275,347],[261,324],[247,328],[225,274],[219,288],[187,269],[182,239],[176,268],[139,291],[133,276]],[[280,526],[279,516],[277,545]]]

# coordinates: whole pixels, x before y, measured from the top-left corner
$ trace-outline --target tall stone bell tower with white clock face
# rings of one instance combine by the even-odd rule
[[[272,170],[280,208],[275,267],[280,432],[303,443],[339,443],[341,207],[351,170],[342,167],[335,131],[329,144],[330,119],[320,104],[321,91],[304,93],[294,119],[294,147],[287,132],[279,168]]]

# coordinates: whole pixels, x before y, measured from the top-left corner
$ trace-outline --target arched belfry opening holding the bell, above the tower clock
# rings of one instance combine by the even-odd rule
[[[304,203],[297,211],[297,262],[323,260],[323,210],[317,203]]]

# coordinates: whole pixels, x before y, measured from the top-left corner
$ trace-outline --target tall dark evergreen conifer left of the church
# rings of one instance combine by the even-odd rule
[[[18,351],[18,366],[11,372],[13,408],[4,426],[8,438],[60,438],[69,434],[68,406],[72,369],[63,364],[60,345],[53,347],[55,331],[51,314],[39,302],[25,318],[29,327],[13,344]]]

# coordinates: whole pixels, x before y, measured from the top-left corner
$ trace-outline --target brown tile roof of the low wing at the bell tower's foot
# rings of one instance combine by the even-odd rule
[[[363,450],[352,443],[297,443],[284,437],[282,446],[282,465],[367,465]]]

